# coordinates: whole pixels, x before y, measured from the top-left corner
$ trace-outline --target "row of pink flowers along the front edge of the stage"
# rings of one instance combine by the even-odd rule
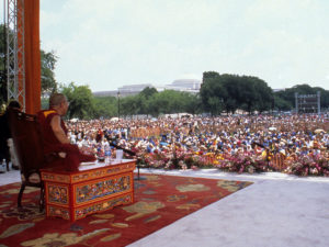
[[[329,158],[326,155],[299,155],[284,160],[285,170],[280,170],[266,157],[252,153],[236,154],[195,153],[177,149],[174,151],[138,153],[138,162],[145,167],[163,169],[218,168],[229,172],[283,171],[297,176],[329,177]],[[282,169],[282,168],[281,168]]]

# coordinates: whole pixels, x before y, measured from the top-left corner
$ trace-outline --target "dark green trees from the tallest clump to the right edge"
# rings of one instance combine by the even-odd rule
[[[309,85],[296,85],[292,88],[273,91],[268,83],[258,78],[238,75],[219,75],[216,71],[203,74],[200,90],[203,110],[215,114],[235,113],[242,110],[247,113],[291,111],[295,108],[295,92],[316,94],[320,92],[320,105],[329,108],[329,91]]]

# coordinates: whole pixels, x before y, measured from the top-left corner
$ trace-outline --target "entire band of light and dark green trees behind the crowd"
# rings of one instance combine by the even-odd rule
[[[213,77],[215,76],[215,77]],[[276,111],[290,111],[295,108],[294,93],[315,94],[321,92],[322,109],[329,106],[329,91],[308,85],[273,92],[257,77],[205,72],[200,93],[193,94],[174,90],[158,92],[155,88],[145,88],[136,96],[94,97],[89,86],[61,86],[59,90],[70,102],[68,117],[110,119],[133,115],[159,116],[186,112],[211,115],[234,114],[242,110],[249,114]],[[44,101],[46,108],[46,102]]]

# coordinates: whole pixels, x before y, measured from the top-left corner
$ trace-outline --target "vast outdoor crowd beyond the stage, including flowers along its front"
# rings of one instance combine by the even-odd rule
[[[150,167],[216,166],[250,172],[260,164],[266,170],[271,164],[297,175],[329,176],[327,114],[92,120],[67,125],[71,143],[92,149],[99,158],[113,158],[120,146]],[[307,171],[303,162],[309,162]]]

